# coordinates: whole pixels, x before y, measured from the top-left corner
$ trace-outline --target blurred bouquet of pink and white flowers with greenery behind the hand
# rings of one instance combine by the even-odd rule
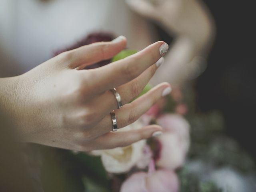
[[[65,50],[112,39],[111,34],[94,33]],[[112,60],[90,67],[100,67],[134,53],[136,50],[123,50]],[[148,84],[140,95],[150,88]],[[223,133],[224,120],[220,112],[200,114],[196,112],[195,100],[192,83],[173,87],[169,96],[154,104],[139,120],[118,130],[159,124],[163,134],[155,134],[130,146],[88,153],[41,147],[47,156],[41,169],[44,189],[81,192],[254,191],[253,160],[235,140]]]

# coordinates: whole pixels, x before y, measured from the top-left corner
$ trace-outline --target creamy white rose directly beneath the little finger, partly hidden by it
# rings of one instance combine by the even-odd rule
[[[143,124],[140,120],[118,130],[129,131],[142,128]],[[118,147],[108,150],[94,150],[93,155],[100,155],[104,168],[110,173],[128,172],[143,155],[143,148],[146,140],[140,140],[126,147]]]

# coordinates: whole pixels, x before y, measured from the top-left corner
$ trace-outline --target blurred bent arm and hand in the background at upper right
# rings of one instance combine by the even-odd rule
[[[214,21],[201,0],[126,0],[138,14],[156,20],[175,41],[154,82],[172,84],[195,78],[205,69],[214,38]]]

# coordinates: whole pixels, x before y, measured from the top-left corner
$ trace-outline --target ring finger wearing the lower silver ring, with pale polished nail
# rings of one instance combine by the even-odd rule
[[[125,104],[121,109],[115,110],[117,128],[125,127],[147,112],[154,103],[166,96],[171,91],[170,84],[162,83],[152,88],[130,104]],[[112,130],[110,114],[106,115],[100,123],[90,130],[92,135],[102,135]]]

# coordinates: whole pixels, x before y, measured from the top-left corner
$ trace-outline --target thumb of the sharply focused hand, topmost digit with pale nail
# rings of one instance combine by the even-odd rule
[[[111,42],[96,42],[64,52],[62,55],[69,61],[70,68],[83,69],[90,64],[107,60],[126,47],[126,38],[119,36]]]

